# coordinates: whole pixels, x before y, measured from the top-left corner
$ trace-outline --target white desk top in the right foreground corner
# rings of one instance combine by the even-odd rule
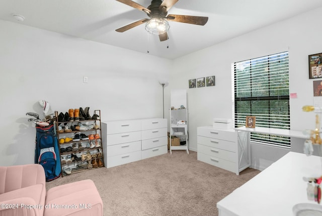
[[[293,216],[306,196],[305,177],[322,174],[321,157],[289,152],[217,203],[219,216]]]

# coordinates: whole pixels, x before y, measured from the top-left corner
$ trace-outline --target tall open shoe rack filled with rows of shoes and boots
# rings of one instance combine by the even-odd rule
[[[65,114],[55,111],[62,177],[105,167],[101,111],[94,110],[93,117],[88,107],[85,111],[82,108],[69,109]]]

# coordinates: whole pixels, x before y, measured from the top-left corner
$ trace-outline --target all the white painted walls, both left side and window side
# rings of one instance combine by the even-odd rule
[[[173,61],[0,21],[0,165],[33,163],[35,128],[25,114],[41,112],[38,100],[62,112],[86,106],[90,111],[101,109],[103,120],[162,117],[158,80],[169,81],[168,121],[171,89],[187,89],[189,143],[196,151],[198,126],[211,125],[214,117],[232,118],[231,63],[285,50],[290,57],[290,93],[297,93],[290,99],[291,129],[311,129],[314,115],[301,107],[313,103],[307,56],[322,52],[322,29],[312,26],[321,13],[318,8]],[[189,89],[189,79],[213,75],[216,86]],[[254,145],[252,166],[259,169],[287,152]]]

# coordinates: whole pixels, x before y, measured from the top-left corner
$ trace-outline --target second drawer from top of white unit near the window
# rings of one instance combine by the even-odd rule
[[[237,152],[237,143],[222,139],[215,139],[205,136],[197,136],[197,143],[217,149],[223,149],[230,152]]]

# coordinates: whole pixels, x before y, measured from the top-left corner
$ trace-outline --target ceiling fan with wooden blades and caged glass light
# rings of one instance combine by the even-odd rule
[[[168,30],[170,28],[168,21],[188,23],[195,25],[205,25],[208,21],[208,17],[197,17],[188,15],[174,15],[169,14],[168,11],[174,6],[179,0],[152,0],[151,5],[147,8],[131,1],[131,0],[116,0],[124,3],[125,5],[131,6],[135,9],[143,11],[147,14],[150,19],[142,19],[116,29],[117,32],[125,32],[131,28],[134,28],[143,23],[145,24],[145,30],[151,34],[159,35],[160,41],[168,40]],[[167,16],[168,15],[168,16]]]

